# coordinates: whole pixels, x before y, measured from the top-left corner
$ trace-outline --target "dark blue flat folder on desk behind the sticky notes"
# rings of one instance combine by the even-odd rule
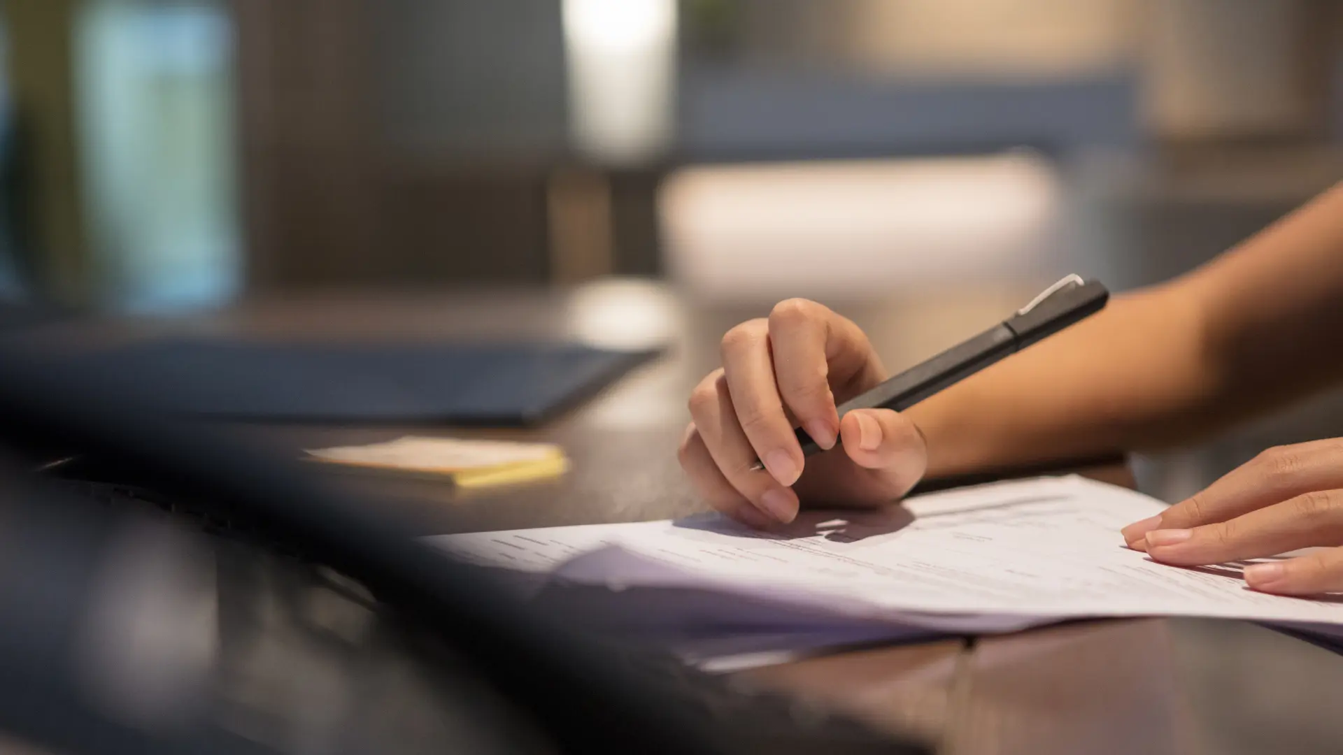
[[[83,355],[175,411],[243,420],[530,426],[655,351],[576,344],[172,341]]]

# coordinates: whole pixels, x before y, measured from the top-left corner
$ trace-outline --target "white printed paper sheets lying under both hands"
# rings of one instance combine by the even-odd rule
[[[1120,528],[1163,508],[1056,477],[877,512],[804,512],[778,532],[704,515],[431,540],[471,563],[548,575],[580,599],[607,595],[602,611],[623,605],[624,621],[650,631],[838,631],[857,622],[980,633],[1121,615],[1343,623],[1343,596],[1264,595],[1245,587],[1244,564],[1178,568],[1125,548]]]

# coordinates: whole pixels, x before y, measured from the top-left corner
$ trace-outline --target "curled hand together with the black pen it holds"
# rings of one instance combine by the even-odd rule
[[[1100,283],[1069,275],[1009,320],[885,382],[857,325],[823,305],[784,301],[724,336],[723,368],[690,396],[681,465],[714,508],[752,527],[791,521],[799,494],[834,504],[898,498],[928,465],[923,435],[900,410],[1097,312],[1107,298]]]

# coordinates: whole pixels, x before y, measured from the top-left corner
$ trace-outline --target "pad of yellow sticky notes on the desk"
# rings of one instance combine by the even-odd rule
[[[485,488],[564,474],[568,457],[553,443],[474,441],[406,435],[385,443],[310,449],[308,458],[379,472],[446,477],[462,488]]]

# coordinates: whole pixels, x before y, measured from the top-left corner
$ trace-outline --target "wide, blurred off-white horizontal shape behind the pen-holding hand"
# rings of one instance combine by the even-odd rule
[[[1029,153],[701,167],[658,200],[666,263],[706,298],[868,298],[1030,278],[1058,245],[1061,188]]]

